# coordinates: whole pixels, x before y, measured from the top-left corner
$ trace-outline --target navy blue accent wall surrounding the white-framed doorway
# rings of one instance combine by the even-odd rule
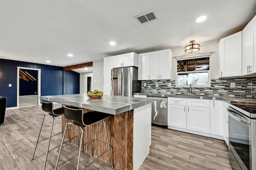
[[[7,98],[7,107],[17,106],[17,67],[41,69],[41,96],[79,93],[79,73],[69,70],[64,74],[63,67],[0,59],[0,96]]]

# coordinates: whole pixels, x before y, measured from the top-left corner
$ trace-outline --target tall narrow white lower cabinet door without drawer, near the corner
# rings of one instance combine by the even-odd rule
[[[222,138],[222,111],[223,103],[218,100],[210,100],[210,134]]]

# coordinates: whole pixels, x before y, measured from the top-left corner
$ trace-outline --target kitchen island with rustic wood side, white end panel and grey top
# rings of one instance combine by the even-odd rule
[[[114,167],[120,170],[137,170],[149,154],[151,144],[151,103],[152,99],[103,95],[100,99],[90,99],[86,94],[41,96],[44,101],[61,103],[112,115],[106,120],[108,138]],[[62,130],[65,119],[62,116]],[[77,135],[76,126],[69,130],[70,138]],[[102,122],[92,125],[92,138],[106,142]],[[84,128],[84,143],[89,140],[87,127]],[[67,136],[66,136],[67,139]],[[73,142],[78,145],[78,138]],[[106,146],[93,141],[94,156],[99,156]],[[90,152],[89,145],[84,146]],[[109,154],[100,157],[110,164]]]

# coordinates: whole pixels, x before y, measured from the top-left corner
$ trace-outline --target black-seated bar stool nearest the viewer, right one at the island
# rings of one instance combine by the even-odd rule
[[[64,130],[64,133],[66,132],[66,129],[67,129],[67,126],[68,124],[74,124],[74,125],[77,125],[80,127],[81,129],[81,138],[80,138],[80,145],[79,145],[79,154],[78,154],[78,162],[77,162],[77,170],[79,169],[79,164],[80,164],[80,156],[81,156],[81,150],[82,150],[82,146],[90,143],[90,150],[91,150],[91,156],[93,156],[93,152],[92,152],[92,140],[96,140],[98,142],[101,142],[103,144],[106,144],[108,146],[108,148],[102,153],[100,154],[100,156],[102,156],[105,152],[109,151],[109,155],[110,155],[110,160],[111,160],[111,166],[112,168],[114,168],[114,165],[113,165],[113,160],[112,160],[112,154],[111,154],[111,151],[110,151],[110,144],[109,144],[109,141],[108,141],[108,134],[107,134],[107,130],[106,130],[106,123],[105,123],[105,120],[110,118],[111,116],[108,115],[108,114],[105,114],[105,113],[98,113],[98,112],[87,112],[87,113],[83,113],[83,110],[82,109],[72,109],[72,108],[68,108],[68,107],[65,107],[64,106],[64,117],[70,121],[72,121],[72,123],[66,123],[66,127],[65,127],[65,130]],[[107,140],[107,143],[105,142],[102,142],[96,138],[92,139],[91,138],[91,129],[90,129],[90,126],[91,125],[94,125],[95,123],[98,123],[102,121],[103,122],[103,125],[104,125],[104,129],[105,129],[105,133],[106,133],[106,140]],[[89,137],[90,137],[90,141],[87,142],[86,144],[83,144],[82,145],[82,141],[83,141],[83,135],[84,135],[84,127],[88,127],[89,128]],[[63,141],[64,141],[64,137],[62,138],[62,142],[61,142],[61,145],[60,145],[60,152],[58,154],[58,159],[57,159],[57,162],[56,162],[56,166],[55,166],[55,170],[57,169],[57,166],[58,166],[58,162],[59,160],[61,160],[62,158],[66,157],[67,155],[63,156],[62,158],[60,158],[60,153],[61,153],[61,150],[62,150],[62,145],[63,145]],[[76,148],[77,150],[78,148]],[[75,150],[73,150],[72,152],[74,152]],[[100,156],[98,156],[98,158],[100,158]],[[96,158],[96,160],[98,159]],[[89,168],[89,166],[91,166],[96,160],[94,160],[91,164],[89,164],[85,170],[87,168]]]

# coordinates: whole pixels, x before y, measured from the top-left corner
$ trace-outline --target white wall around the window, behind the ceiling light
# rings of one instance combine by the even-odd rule
[[[185,47],[180,46],[180,47],[173,47],[171,48],[172,50],[172,57],[177,57],[177,56],[188,56],[188,55],[200,55],[202,53],[209,53],[212,51],[215,51],[214,54],[211,55],[210,57],[210,73],[211,73],[211,79],[217,79],[220,76],[219,70],[220,70],[220,65],[219,65],[219,58],[218,58],[218,43],[220,40],[214,40],[214,41],[209,41],[209,42],[202,42],[200,44],[200,50],[195,53],[186,53],[185,52]],[[176,79],[176,69],[177,69],[177,63],[176,59],[172,58],[172,79]]]

